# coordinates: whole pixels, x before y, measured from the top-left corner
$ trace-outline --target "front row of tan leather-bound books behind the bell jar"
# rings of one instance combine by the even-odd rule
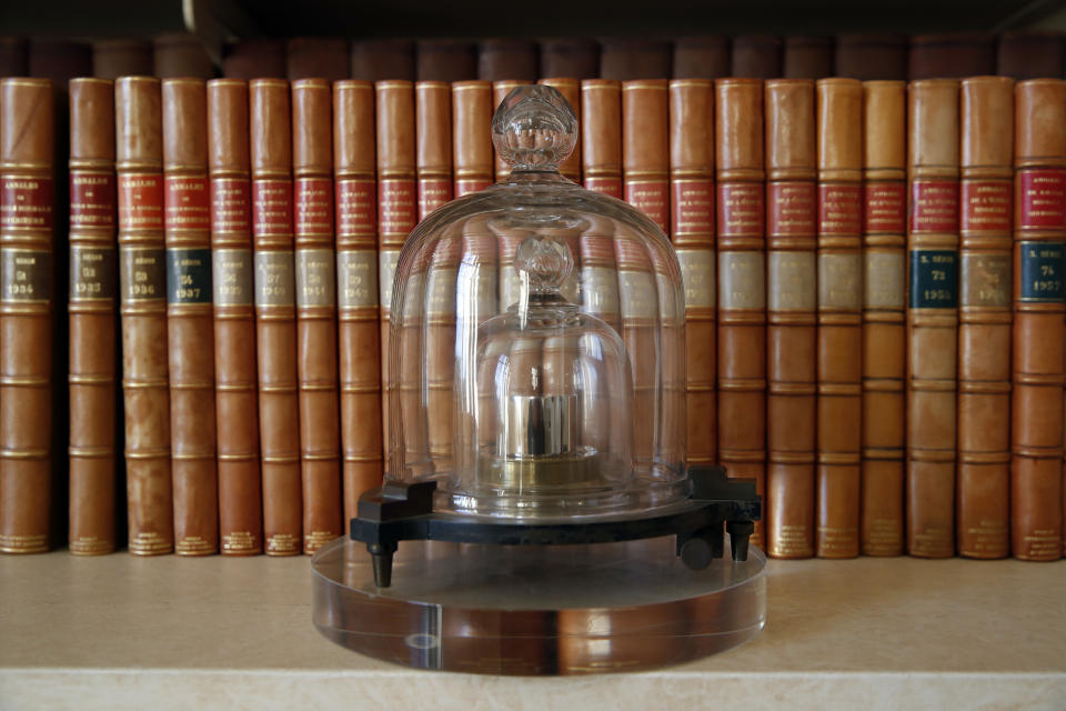
[[[756,479],[771,555],[1060,557],[1066,81],[541,81],[561,172],[676,248],[688,461]],[[48,549],[51,463],[77,553],[343,534],[396,256],[506,178],[519,83],[76,79],[68,142],[3,80],[0,549]]]

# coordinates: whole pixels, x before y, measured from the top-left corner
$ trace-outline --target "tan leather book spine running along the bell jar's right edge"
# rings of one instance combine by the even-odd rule
[[[717,461],[714,254],[714,82],[670,82],[670,239],[685,288],[688,464]]]

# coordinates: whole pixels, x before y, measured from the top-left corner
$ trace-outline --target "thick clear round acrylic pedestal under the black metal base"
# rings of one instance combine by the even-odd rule
[[[592,545],[400,545],[392,587],[346,538],[322,548],[314,624],[342,647],[419,669],[586,674],[721,652],[766,620],[766,559],[688,570],[673,537]]]

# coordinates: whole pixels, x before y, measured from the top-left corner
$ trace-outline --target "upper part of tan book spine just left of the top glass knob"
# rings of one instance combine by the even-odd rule
[[[492,83],[471,80],[452,84],[452,158],[455,197],[492,184]]]

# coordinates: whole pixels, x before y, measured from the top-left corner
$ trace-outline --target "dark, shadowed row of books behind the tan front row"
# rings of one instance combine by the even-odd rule
[[[188,33],[92,42],[0,37],[0,77],[129,74],[232,79],[464,81],[572,77],[750,77],[915,80],[1002,74],[1063,77],[1066,34],[1049,30],[939,34],[844,33],[667,39],[352,39],[291,37],[227,44],[217,69]]]

